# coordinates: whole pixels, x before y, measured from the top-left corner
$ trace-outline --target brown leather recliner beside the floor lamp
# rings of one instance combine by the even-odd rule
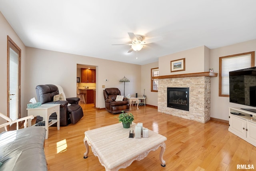
[[[124,97],[123,101],[115,101],[117,95],[121,95],[118,88],[106,88],[103,90],[105,99],[105,108],[110,113],[119,113],[121,111],[129,110],[129,101]]]

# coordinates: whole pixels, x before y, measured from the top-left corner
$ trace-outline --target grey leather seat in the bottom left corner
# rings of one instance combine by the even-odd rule
[[[3,171],[47,171],[44,127],[27,127],[0,134]]]

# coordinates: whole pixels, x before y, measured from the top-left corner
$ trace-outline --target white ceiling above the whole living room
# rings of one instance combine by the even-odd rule
[[[0,11],[26,46],[140,65],[256,38],[256,0],[0,0]],[[163,40],[112,46],[127,32]]]

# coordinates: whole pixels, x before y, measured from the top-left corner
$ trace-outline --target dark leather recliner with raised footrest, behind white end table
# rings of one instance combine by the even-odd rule
[[[83,116],[82,107],[78,104],[80,98],[78,97],[70,97],[66,98],[66,100],[61,101],[53,101],[54,95],[58,95],[58,87],[53,84],[46,85],[37,85],[36,86],[36,95],[38,102],[42,104],[60,104],[60,125],[65,126],[68,125],[68,120],[74,124],[79,121]],[[71,105],[68,105],[70,103]],[[50,115],[50,119],[56,119],[56,113]],[[37,121],[42,120],[42,117],[38,117]]]

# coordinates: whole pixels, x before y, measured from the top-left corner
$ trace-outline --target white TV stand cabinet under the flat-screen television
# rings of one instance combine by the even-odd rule
[[[233,115],[231,112],[243,115]],[[256,147],[256,120],[251,120],[250,115],[256,119],[254,112],[243,110],[240,107],[229,107],[228,131]]]

